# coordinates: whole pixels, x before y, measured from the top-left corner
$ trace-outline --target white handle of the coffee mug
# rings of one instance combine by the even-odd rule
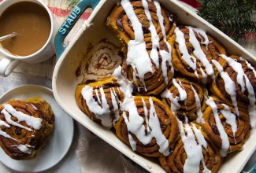
[[[20,64],[20,61],[18,60],[2,57],[0,61],[0,75],[4,77],[8,76],[11,72],[13,72],[14,68],[16,68],[18,64]]]

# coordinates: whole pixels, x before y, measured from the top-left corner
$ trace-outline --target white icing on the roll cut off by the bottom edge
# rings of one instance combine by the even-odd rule
[[[204,162],[204,157],[202,154],[202,147],[207,149],[207,143],[205,138],[202,135],[202,132],[195,127],[195,124],[192,123],[192,127],[188,123],[182,123],[178,118],[177,121],[179,123],[180,129],[180,137],[182,142],[184,143],[184,149],[187,153],[187,160],[184,164],[184,172],[199,172],[200,164],[202,162],[203,172],[211,172]],[[193,130],[192,130],[193,129]],[[187,135],[185,134],[185,131]],[[194,131],[194,133],[193,133]],[[197,138],[197,141],[195,139]],[[197,143],[198,142],[198,143]]]

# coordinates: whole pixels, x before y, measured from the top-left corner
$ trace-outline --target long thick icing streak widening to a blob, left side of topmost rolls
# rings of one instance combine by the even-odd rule
[[[123,6],[124,11],[128,19],[132,23],[132,28],[134,31],[135,39],[128,42],[128,53],[127,53],[127,64],[131,64],[133,68],[133,79],[137,83],[136,71],[138,72],[139,79],[143,82],[144,86],[144,75],[147,72],[152,71],[152,63],[150,61],[149,54],[146,50],[146,43],[144,42],[142,24],[136,17],[133,10],[132,4],[128,0],[122,0],[121,6]],[[139,90],[139,88],[138,88]],[[145,90],[147,88],[145,86]]]

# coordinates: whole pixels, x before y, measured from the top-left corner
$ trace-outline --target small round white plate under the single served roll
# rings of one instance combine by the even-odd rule
[[[3,94],[0,98],[0,104],[13,98],[26,100],[35,97],[40,97],[50,103],[55,115],[54,133],[35,159],[32,160],[13,160],[0,147],[0,161],[15,171],[45,171],[61,161],[69,151],[72,143],[74,134],[73,120],[55,101],[52,90],[38,85],[18,86]]]

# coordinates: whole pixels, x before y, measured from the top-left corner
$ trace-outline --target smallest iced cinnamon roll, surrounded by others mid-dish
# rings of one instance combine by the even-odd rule
[[[169,89],[161,93],[162,101],[180,119],[203,123],[202,112],[206,109],[206,88],[184,78],[173,78]]]

